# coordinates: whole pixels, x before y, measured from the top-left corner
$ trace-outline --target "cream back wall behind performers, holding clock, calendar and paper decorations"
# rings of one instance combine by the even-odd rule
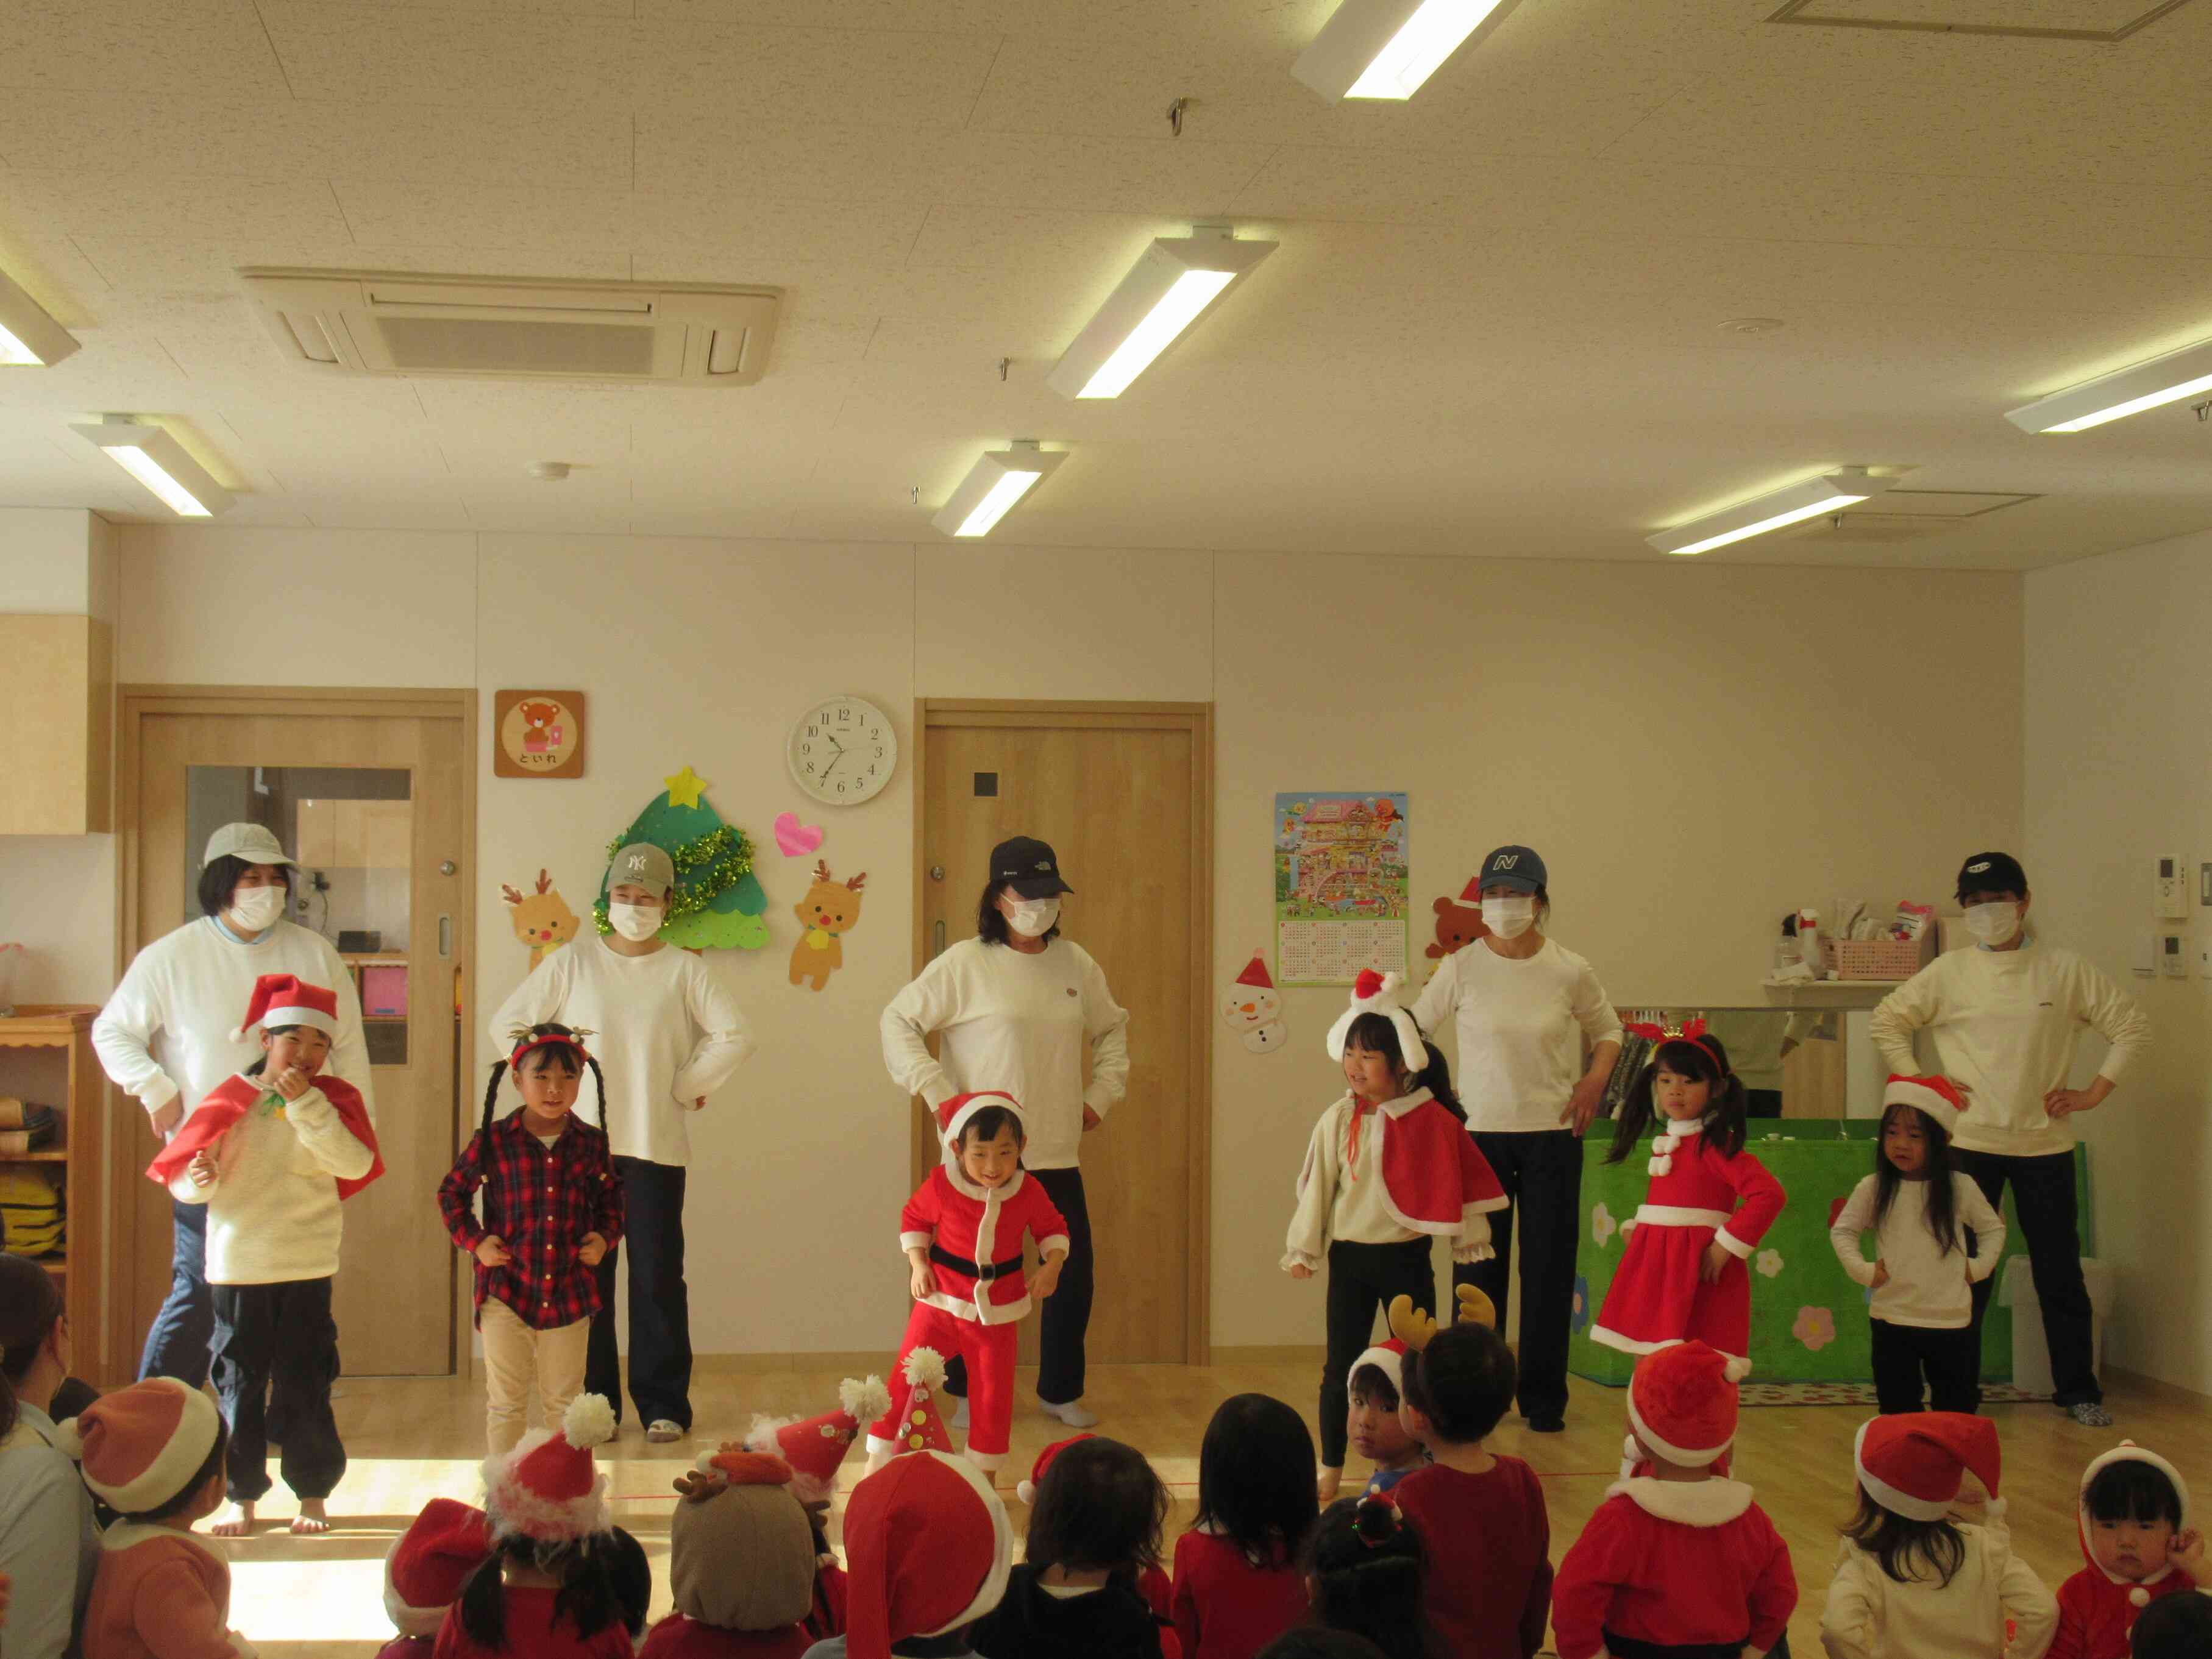
[[[2017,577],[131,529],[122,586],[126,681],[478,686],[487,728],[500,688],[591,697],[586,779],[491,779],[478,757],[484,1009],[524,967],[500,883],[544,865],[582,911],[608,836],[686,763],[768,838],[805,810],[787,721],[832,690],[902,726],[914,697],[1212,701],[1210,1029],[1219,984],[1254,945],[1272,956],[1276,790],[1411,790],[1422,914],[1489,845],[1537,845],[1559,936],[1621,1000],[1756,1000],[1770,914],[1929,896],[1969,845],[2020,834]],[[283,595],[252,648],[241,591]],[[1849,644],[1814,666],[1807,630]],[[1905,635],[1951,644],[1893,650]],[[900,1312],[885,1239],[907,1108],[874,1020],[911,967],[909,790],[827,823],[823,856],[869,872],[832,989],[785,982],[787,931],[710,958],[765,1044],[697,1124],[692,1208],[719,1206],[690,1228],[701,1352],[885,1347]],[[22,858],[0,845],[0,885]],[[761,863],[776,918],[796,865],[772,841]],[[1292,993],[1285,1055],[1217,1046],[1217,1345],[1318,1340],[1318,1294],[1274,1259],[1307,1128],[1340,1091],[1321,1055],[1338,995]],[[794,1256],[805,1276],[763,1272]]]

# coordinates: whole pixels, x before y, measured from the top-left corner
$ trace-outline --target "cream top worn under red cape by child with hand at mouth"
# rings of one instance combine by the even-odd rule
[[[358,1181],[376,1152],[354,1139],[321,1088],[283,1102],[265,1091],[217,1141],[212,1186],[190,1168],[170,1197],[208,1206],[210,1285],[288,1285],[338,1272],[345,1219],[338,1181]]]

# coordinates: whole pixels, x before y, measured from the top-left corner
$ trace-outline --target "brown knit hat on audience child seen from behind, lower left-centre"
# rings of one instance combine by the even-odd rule
[[[730,1484],[677,1504],[668,1584],[677,1613],[723,1630],[781,1630],[814,1606],[814,1528],[781,1458],[728,1449],[699,1467]]]

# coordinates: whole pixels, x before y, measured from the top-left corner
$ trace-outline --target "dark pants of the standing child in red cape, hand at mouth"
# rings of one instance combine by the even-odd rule
[[[338,1323],[327,1279],[281,1285],[210,1285],[215,1301],[215,1396],[230,1425],[226,1489],[252,1504],[270,1489],[270,1425],[279,1471],[296,1498],[330,1498],[345,1473],[330,1385],[338,1380]]]

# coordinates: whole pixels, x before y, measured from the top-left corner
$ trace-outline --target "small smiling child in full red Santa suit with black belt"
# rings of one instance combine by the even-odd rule
[[[1029,1128],[1013,1095],[953,1095],[938,1106],[938,1130],[945,1161],[898,1217],[914,1292],[898,1365],[905,1369],[916,1347],[967,1360],[967,1455],[980,1469],[998,1469],[1013,1431],[1015,1329],[1031,1292],[1042,1301],[1060,1285],[1068,1223],[1022,1170]],[[1024,1232],[1044,1259],[1035,1285],[1022,1276]],[[896,1444],[898,1420],[885,1413],[867,1433],[869,1469],[880,1469]]]

